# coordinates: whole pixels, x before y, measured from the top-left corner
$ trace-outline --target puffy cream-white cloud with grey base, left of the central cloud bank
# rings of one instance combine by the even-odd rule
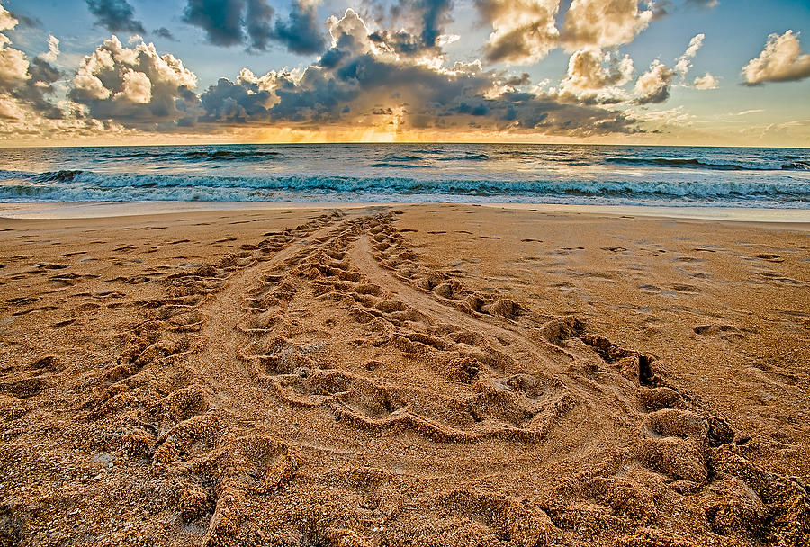
[[[165,129],[189,121],[196,85],[180,59],[143,41],[127,48],[113,35],[82,60],[68,97],[96,119]]]

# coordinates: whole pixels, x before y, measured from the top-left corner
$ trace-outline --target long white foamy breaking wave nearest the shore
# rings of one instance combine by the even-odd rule
[[[362,177],[277,175],[109,175],[66,170],[43,173],[0,171],[0,200],[95,201],[524,201],[659,204],[712,203],[810,206],[804,181],[761,184],[755,180],[701,182],[430,180],[407,176]]]

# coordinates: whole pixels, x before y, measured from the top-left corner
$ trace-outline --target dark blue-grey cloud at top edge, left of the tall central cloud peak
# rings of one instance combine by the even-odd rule
[[[216,46],[247,44],[248,49],[266,50],[277,42],[293,53],[313,54],[325,43],[318,4],[293,0],[287,20],[274,21],[275,11],[266,0],[188,0],[184,22],[200,27]]]

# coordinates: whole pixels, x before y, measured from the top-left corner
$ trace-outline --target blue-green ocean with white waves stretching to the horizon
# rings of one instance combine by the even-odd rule
[[[319,144],[0,149],[0,202],[810,209],[810,148]]]

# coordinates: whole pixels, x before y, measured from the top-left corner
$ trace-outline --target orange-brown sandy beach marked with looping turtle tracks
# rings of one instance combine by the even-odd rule
[[[0,545],[810,545],[810,223],[536,209],[0,219]]]

